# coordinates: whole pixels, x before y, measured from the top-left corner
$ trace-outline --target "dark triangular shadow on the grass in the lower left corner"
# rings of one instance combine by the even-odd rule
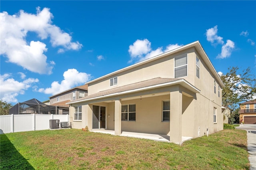
[[[16,150],[12,142],[2,132],[0,134],[0,169],[1,170],[34,170],[28,161]]]

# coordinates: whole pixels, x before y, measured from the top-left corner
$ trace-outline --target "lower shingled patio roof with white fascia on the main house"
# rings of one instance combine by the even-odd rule
[[[80,103],[82,101],[90,101],[90,100],[94,100],[94,99],[100,99],[100,98],[122,95],[122,94],[127,94],[127,93],[134,93],[137,91],[144,91],[144,90],[154,89],[154,88],[158,88],[158,87],[165,87],[165,86],[170,86],[170,85],[176,85],[176,84],[180,84],[180,85],[190,89],[194,93],[200,92],[200,90],[198,90],[196,87],[192,86],[190,83],[188,83],[184,79],[172,79],[172,78],[157,77],[157,78],[146,80],[146,81],[140,81],[138,83],[132,83],[132,84],[124,85],[121,87],[116,87],[113,89],[100,91],[98,93],[88,95],[86,97],[74,100],[74,101],[66,103],[66,104]]]

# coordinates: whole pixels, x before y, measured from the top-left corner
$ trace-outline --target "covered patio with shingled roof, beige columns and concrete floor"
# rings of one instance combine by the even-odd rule
[[[198,92],[184,79],[158,77],[68,104],[82,105],[81,126],[90,131],[180,144],[193,138],[194,114],[190,110]]]

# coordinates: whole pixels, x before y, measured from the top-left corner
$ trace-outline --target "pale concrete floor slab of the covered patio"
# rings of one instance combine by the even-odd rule
[[[106,129],[92,129],[91,132],[105,133],[115,135],[115,130]],[[149,139],[159,142],[170,142],[170,136],[165,134],[148,134],[148,133],[136,133],[136,132],[121,132],[120,136]],[[191,140],[192,137],[182,136],[182,143],[186,140]]]

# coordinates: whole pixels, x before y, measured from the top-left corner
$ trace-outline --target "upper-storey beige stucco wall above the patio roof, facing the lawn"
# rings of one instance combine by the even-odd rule
[[[178,57],[183,54],[188,54],[188,76],[182,77],[194,85],[194,63],[195,63],[195,54],[194,48],[190,48],[181,52],[178,52],[174,55],[169,55],[161,59],[151,61],[144,65],[123,71],[116,75],[107,77],[100,81],[90,83],[88,85],[88,95],[97,93],[98,91],[104,91],[107,89],[112,89],[120,87],[123,85],[128,85],[132,83],[137,83],[140,81],[145,81],[148,79],[153,79],[156,77],[162,78],[174,78],[174,57]],[[191,64],[193,63],[193,64]],[[118,85],[110,87],[110,78],[118,77]]]

